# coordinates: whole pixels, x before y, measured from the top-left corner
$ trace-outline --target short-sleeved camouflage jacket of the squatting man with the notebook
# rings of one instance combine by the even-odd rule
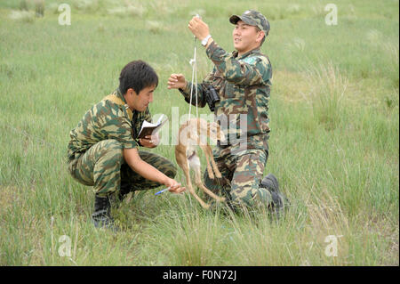
[[[113,94],[126,103],[119,89]],[[151,122],[148,109],[143,112],[134,110],[131,121],[124,106],[108,100],[98,102],[86,111],[84,118],[69,133],[68,159],[77,158],[92,145],[108,139],[121,142],[123,148],[138,147],[140,144],[136,137],[144,120]]]

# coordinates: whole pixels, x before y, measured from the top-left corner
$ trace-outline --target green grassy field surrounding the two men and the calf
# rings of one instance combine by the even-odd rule
[[[58,23],[60,3],[70,4],[70,26]],[[21,12],[20,1],[1,0],[0,264],[398,265],[399,3],[335,0],[334,26],[324,21],[328,3],[46,0],[37,18],[32,3]],[[123,231],[95,229],[94,194],[68,174],[69,131],[136,59],[160,78],[152,113],[187,113],[166,81],[190,78],[188,20],[200,13],[231,51],[228,16],[247,9],[271,24],[265,173],[292,207],[271,221],[140,191],[114,212]],[[200,80],[212,62],[197,46]],[[172,145],[154,151],[175,161]]]

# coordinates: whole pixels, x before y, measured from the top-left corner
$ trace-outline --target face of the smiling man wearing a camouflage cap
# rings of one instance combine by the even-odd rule
[[[252,49],[260,45],[263,34],[257,31],[257,28],[246,24],[243,20],[236,22],[232,36],[234,47],[239,52],[239,55],[250,52]]]

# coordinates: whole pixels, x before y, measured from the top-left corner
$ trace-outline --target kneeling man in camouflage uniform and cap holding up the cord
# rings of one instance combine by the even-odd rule
[[[284,207],[284,195],[278,189],[276,177],[268,174],[262,179],[268,159],[268,99],[272,68],[268,57],[260,53],[260,46],[268,36],[268,20],[256,11],[233,15],[235,25],[233,44],[236,49],[227,53],[211,37],[208,25],[198,17],[188,28],[206,48],[214,64],[203,83],[193,85],[182,74],[172,74],[169,89],[179,89],[185,101],[204,107],[206,93],[212,86],[219,93],[214,114],[220,121],[227,141],[219,142],[213,150],[214,159],[224,177],[212,180],[204,173],[205,185],[212,191],[225,193],[234,207]]]

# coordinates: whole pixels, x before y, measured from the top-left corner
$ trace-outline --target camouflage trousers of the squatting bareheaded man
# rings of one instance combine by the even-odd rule
[[[139,155],[170,178],[175,176],[176,167],[168,159],[147,151],[139,151]],[[93,186],[96,195],[100,197],[119,191],[121,183],[129,184],[131,191],[148,190],[162,185],[132,171],[124,161],[121,143],[112,139],[98,142],[70,160],[68,170],[77,182]]]

